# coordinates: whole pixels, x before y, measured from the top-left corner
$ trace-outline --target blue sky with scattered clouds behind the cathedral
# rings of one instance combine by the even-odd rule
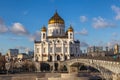
[[[120,0],[0,0],[0,52],[33,50],[56,9],[66,29],[73,26],[81,49],[120,44]]]

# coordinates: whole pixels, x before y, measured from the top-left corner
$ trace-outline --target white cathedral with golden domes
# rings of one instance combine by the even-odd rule
[[[34,60],[64,61],[80,53],[80,41],[74,40],[74,29],[65,30],[65,22],[57,12],[41,29],[41,40],[34,42]]]

